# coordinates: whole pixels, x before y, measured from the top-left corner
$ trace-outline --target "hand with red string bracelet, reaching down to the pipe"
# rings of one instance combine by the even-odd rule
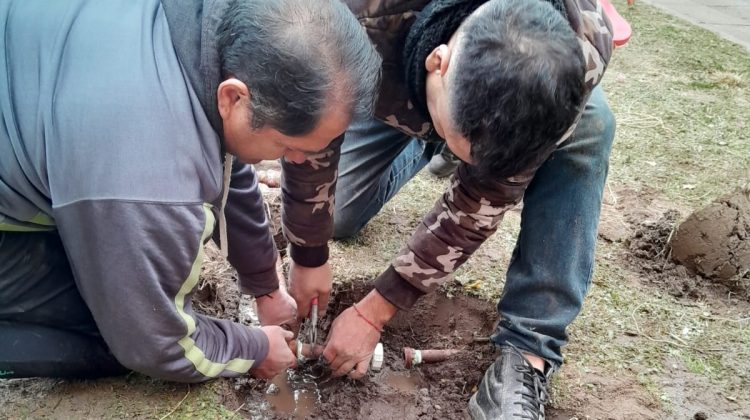
[[[352,379],[365,376],[380,331],[398,310],[376,290],[356,305],[359,313],[354,307],[348,308],[333,321],[328,333],[323,357],[333,376],[349,374]],[[370,322],[374,325],[369,325]]]

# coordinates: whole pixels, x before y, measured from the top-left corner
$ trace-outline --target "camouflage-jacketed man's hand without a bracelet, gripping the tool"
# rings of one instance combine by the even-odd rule
[[[328,263],[314,268],[303,267],[294,261],[289,264],[289,294],[297,301],[298,319],[310,315],[310,302],[314,298],[318,298],[320,315],[325,313],[332,282],[333,273]]]

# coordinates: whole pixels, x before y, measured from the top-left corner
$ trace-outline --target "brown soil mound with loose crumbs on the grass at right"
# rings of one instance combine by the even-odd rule
[[[750,300],[750,199],[736,192],[691,214],[666,210],[661,217],[630,220],[626,243],[631,265],[648,282],[678,298],[734,296]]]

